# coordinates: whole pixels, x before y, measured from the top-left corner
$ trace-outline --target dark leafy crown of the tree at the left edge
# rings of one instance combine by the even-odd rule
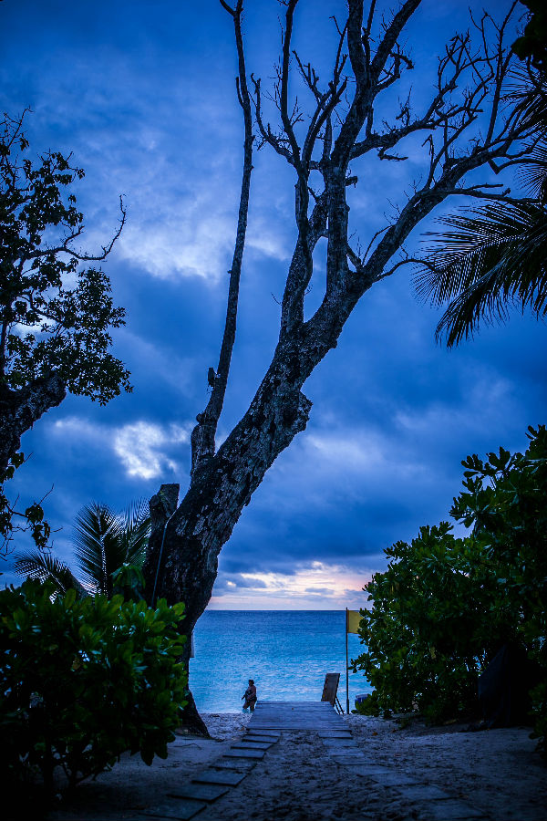
[[[0,385],[17,390],[57,372],[68,390],[104,404],[130,390],[129,371],[112,356],[110,328],[125,324],[108,276],[81,262],[105,259],[74,243],[84,231],[70,157],[47,151],[31,161],[23,118],[0,123]]]

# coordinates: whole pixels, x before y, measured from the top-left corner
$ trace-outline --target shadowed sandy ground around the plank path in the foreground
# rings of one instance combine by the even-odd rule
[[[207,768],[216,766],[222,772],[222,755],[243,737],[250,715],[203,718],[212,740],[179,735],[170,744],[168,759],[155,759],[151,767],[138,756],[125,756],[110,773],[79,785],[72,798],[46,815],[47,821],[187,817],[176,796]],[[449,821],[463,817],[461,812],[458,815],[463,802],[471,808],[465,816],[469,818],[547,819],[547,766],[534,752],[529,728],[470,733],[461,732],[464,728],[459,725],[427,728],[419,722],[399,729],[395,722],[358,715],[344,721],[366,763],[387,768],[387,783],[386,778],[382,784],[371,780],[358,766],[336,763],[317,733],[282,733],[262,760],[243,762],[239,785],[226,787],[224,795],[194,817],[200,821]],[[412,781],[414,786],[403,795],[401,790]],[[432,804],[428,796],[439,795],[439,790],[454,801]],[[191,802],[184,806],[191,811]],[[439,807],[444,807],[445,816],[439,815]]]

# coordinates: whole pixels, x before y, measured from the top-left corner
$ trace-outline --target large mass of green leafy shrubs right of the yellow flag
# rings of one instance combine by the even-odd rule
[[[353,661],[375,688],[368,713],[418,710],[439,721],[476,710],[477,677],[501,644],[523,647],[547,678],[547,431],[522,453],[462,462],[464,491],[446,522],[397,542],[366,585],[366,652]],[[535,733],[547,729],[547,687],[532,691]]]

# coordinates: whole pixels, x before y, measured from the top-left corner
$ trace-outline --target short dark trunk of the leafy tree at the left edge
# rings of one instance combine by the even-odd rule
[[[0,471],[19,450],[21,436],[50,408],[67,396],[65,384],[57,374],[36,379],[21,390],[0,385]]]

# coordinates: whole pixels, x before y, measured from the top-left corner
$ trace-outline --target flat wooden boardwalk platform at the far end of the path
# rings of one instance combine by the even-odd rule
[[[328,701],[259,701],[248,723],[258,730],[346,730]]]

